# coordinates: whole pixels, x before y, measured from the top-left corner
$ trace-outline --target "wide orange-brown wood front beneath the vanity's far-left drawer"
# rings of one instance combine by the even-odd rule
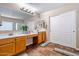
[[[10,56],[15,54],[15,43],[0,46],[0,56]]]

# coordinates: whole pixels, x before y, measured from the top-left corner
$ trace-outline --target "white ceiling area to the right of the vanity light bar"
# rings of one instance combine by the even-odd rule
[[[62,7],[63,5],[66,5],[66,3],[29,3],[29,5],[37,8],[39,13],[43,13],[49,10]]]

